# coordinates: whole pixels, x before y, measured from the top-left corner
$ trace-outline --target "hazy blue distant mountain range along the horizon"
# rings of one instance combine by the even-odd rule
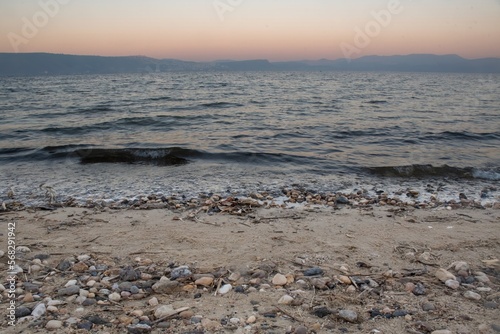
[[[220,60],[193,62],[143,56],[102,57],[52,53],[0,53],[0,76],[151,73],[172,71],[395,71],[500,73],[500,58],[412,54],[357,59],[270,62]]]

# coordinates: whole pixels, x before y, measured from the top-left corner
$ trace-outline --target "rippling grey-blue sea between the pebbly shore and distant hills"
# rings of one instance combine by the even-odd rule
[[[47,186],[81,203],[293,188],[500,201],[499,74],[5,77],[0,116],[4,202],[41,205]]]

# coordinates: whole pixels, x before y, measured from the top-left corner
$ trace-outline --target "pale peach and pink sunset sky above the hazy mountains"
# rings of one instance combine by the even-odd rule
[[[500,0],[0,0],[0,52],[500,57]]]

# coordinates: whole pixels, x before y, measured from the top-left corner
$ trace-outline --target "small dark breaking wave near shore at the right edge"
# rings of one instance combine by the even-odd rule
[[[453,177],[461,179],[500,180],[499,168],[453,167],[448,165],[406,165],[366,168],[370,173],[385,177],[426,178]]]

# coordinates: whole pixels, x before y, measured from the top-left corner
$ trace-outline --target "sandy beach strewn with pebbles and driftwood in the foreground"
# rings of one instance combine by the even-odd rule
[[[58,208],[0,223],[4,333],[500,330],[495,209]],[[15,327],[9,223],[23,270]]]

